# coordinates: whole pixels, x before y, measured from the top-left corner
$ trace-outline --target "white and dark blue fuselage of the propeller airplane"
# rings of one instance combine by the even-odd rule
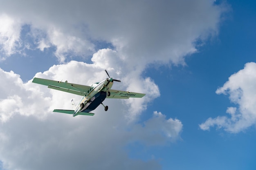
[[[87,92],[87,95],[84,95],[78,105],[75,108],[73,116],[79,115],[79,112],[88,113],[91,110],[97,108],[107,95],[110,95],[109,89],[113,85],[113,79],[108,78],[103,80],[100,83],[92,84],[90,90]],[[108,94],[107,94],[108,93]]]

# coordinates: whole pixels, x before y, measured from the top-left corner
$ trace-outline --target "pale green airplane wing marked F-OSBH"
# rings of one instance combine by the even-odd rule
[[[129,91],[118,91],[118,90],[109,90],[110,96],[107,96],[106,98],[112,98],[112,99],[129,99],[130,97],[137,97],[141,98],[146,94],[143,93],[135,93],[135,92],[129,92]]]

